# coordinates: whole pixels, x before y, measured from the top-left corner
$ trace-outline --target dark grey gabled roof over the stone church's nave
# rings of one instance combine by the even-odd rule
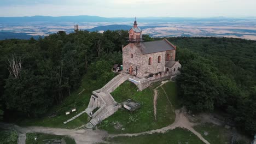
[[[144,42],[141,46],[139,46],[139,49],[141,50],[143,55],[146,55],[149,53],[175,50],[176,46],[171,44],[170,41],[168,41],[167,39],[164,39],[158,41]]]

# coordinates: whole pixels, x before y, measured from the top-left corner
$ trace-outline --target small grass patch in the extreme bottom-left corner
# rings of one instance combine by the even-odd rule
[[[0,143],[9,144],[17,143],[18,133],[15,130],[0,129]]]

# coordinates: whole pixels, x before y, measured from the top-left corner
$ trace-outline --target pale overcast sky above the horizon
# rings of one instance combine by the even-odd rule
[[[0,16],[248,17],[256,0],[0,0]]]

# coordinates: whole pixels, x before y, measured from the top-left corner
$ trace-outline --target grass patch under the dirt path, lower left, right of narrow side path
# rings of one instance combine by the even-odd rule
[[[37,138],[36,140],[34,140]],[[50,135],[50,134],[43,134],[43,133],[27,133],[26,134],[26,144],[44,144],[48,142],[47,140],[65,140],[66,143],[75,144],[74,139],[68,136],[60,136],[60,135]]]

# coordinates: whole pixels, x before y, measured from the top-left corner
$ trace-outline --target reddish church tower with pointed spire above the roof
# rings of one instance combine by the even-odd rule
[[[142,42],[142,31],[138,27],[136,17],[133,23],[133,27],[129,31],[129,42],[130,43],[141,43]]]

